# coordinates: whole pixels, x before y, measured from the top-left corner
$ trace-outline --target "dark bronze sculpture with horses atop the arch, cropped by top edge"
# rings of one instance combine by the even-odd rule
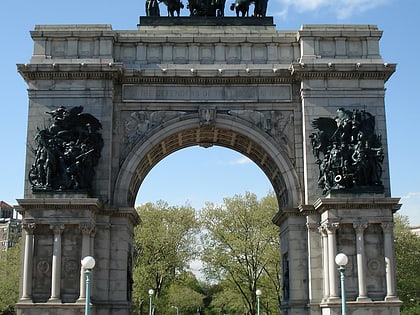
[[[181,0],[146,0],[146,15],[160,16],[159,3],[163,2],[168,8],[168,16],[180,16],[184,4]],[[268,0],[235,0],[230,9],[235,11],[236,16],[249,16],[249,8],[254,5],[254,17],[265,17]],[[218,16],[225,15],[226,0],[188,0],[187,9],[190,16]]]

